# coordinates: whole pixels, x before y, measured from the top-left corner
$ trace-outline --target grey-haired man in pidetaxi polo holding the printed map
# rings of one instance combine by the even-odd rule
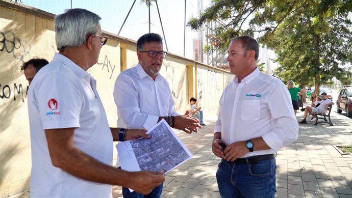
[[[95,79],[107,41],[100,17],[70,9],[55,17],[59,53],[29,89],[32,146],[31,197],[112,197],[112,185],[147,194],[164,180],[162,172],[126,172],[112,166],[113,140],[148,137],[145,130],[109,128]]]

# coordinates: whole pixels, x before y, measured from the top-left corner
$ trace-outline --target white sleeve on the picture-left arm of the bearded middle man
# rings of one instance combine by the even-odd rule
[[[133,79],[124,73],[120,73],[117,76],[114,100],[118,114],[120,114],[128,128],[144,128],[148,130],[158,123],[158,116],[141,113],[138,104],[138,92],[134,86]]]

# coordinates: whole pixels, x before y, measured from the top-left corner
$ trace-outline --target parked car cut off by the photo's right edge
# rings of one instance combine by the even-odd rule
[[[342,88],[336,101],[337,112],[346,111],[347,117],[352,117],[352,87]]]

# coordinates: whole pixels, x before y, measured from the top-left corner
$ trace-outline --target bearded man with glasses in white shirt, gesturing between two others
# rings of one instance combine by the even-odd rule
[[[159,74],[166,52],[159,34],[148,33],[137,41],[136,67],[121,72],[115,82],[114,99],[117,106],[118,126],[150,129],[162,119],[186,133],[201,128],[196,118],[180,116],[173,109],[171,90]],[[145,197],[160,197],[163,185]],[[122,188],[123,197],[143,197]]]

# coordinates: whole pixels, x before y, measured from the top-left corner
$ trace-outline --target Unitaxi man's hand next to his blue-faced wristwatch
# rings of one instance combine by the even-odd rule
[[[223,153],[223,159],[227,161],[235,161],[237,158],[249,153],[249,150],[246,147],[246,142],[241,141],[228,145]]]

